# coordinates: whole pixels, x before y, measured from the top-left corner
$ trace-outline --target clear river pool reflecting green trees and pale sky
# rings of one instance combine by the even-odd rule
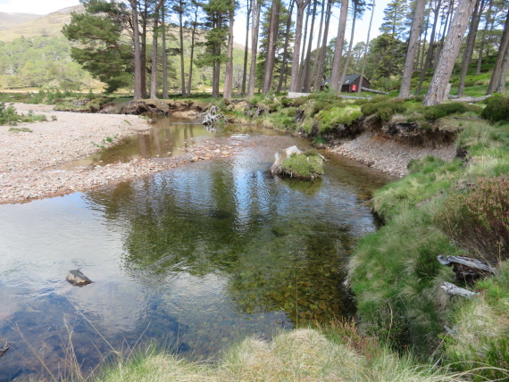
[[[189,129],[164,123],[171,137]],[[247,335],[353,313],[345,264],[376,228],[366,202],[389,179],[341,158],[313,183],[272,178],[274,152],[307,141],[231,139],[248,146],[228,160],[0,205],[0,345],[12,344],[0,381],[47,377],[40,360],[65,376],[70,343],[87,373],[112,348],[154,340],[209,358]],[[73,269],[94,283],[71,286]]]

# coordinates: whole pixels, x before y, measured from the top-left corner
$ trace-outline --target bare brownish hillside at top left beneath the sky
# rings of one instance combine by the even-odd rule
[[[13,26],[10,28],[0,30],[0,41],[12,41],[14,38],[21,36],[62,36],[61,30],[63,24],[67,24],[71,21],[71,12],[84,12],[84,10],[83,5],[75,5],[63,8],[60,11],[48,13],[44,16],[31,15],[31,18],[27,17],[27,19],[25,21],[21,21],[21,23],[18,22],[16,24],[12,24]],[[0,15],[3,14],[29,16],[29,13],[0,13]],[[3,24],[1,19],[0,24]]]

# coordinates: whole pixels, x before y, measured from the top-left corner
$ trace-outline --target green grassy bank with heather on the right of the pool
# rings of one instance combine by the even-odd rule
[[[465,119],[456,145],[466,153],[462,160],[444,162],[428,156],[413,161],[408,177],[375,192],[373,209],[386,224],[359,242],[349,278],[362,327],[395,349],[413,349],[422,359],[434,354],[432,361],[436,361],[445,346],[446,353],[454,353],[448,362],[471,359],[496,366],[490,361],[495,359],[506,370],[503,361],[509,357],[509,347],[505,340],[493,342],[480,336],[481,348],[490,350],[481,351],[477,358],[469,358],[473,350],[463,349],[462,340],[454,334],[446,345],[440,340],[445,325],[473,325],[473,313],[465,313],[468,306],[488,301],[486,294],[495,289],[508,293],[507,285],[496,278],[477,286],[458,284],[453,271],[440,265],[437,256],[465,255],[494,266],[509,259],[505,245],[509,240],[509,124]],[[479,301],[465,303],[441,291],[444,281],[484,292]],[[507,325],[508,302],[502,301],[498,305],[505,310],[499,310],[496,320]],[[447,350],[449,344],[455,344],[454,352]],[[455,367],[471,370],[473,363]]]

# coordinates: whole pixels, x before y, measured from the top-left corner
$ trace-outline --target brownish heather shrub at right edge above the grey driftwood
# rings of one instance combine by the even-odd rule
[[[509,180],[480,178],[450,195],[437,222],[472,257],[496,264],[509,259]]]

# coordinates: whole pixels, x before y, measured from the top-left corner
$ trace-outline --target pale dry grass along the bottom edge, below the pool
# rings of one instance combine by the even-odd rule
[[[370,345],[370,349],[371,349]],[[460,381],[461,374],[416,365],[386,348],[366,356],[330,328],[282,333],[271,342],[250,337],[232,346],[217,363],[179,360],[174,355],[148,352],[104,370],[104,382],[158,381]]]

